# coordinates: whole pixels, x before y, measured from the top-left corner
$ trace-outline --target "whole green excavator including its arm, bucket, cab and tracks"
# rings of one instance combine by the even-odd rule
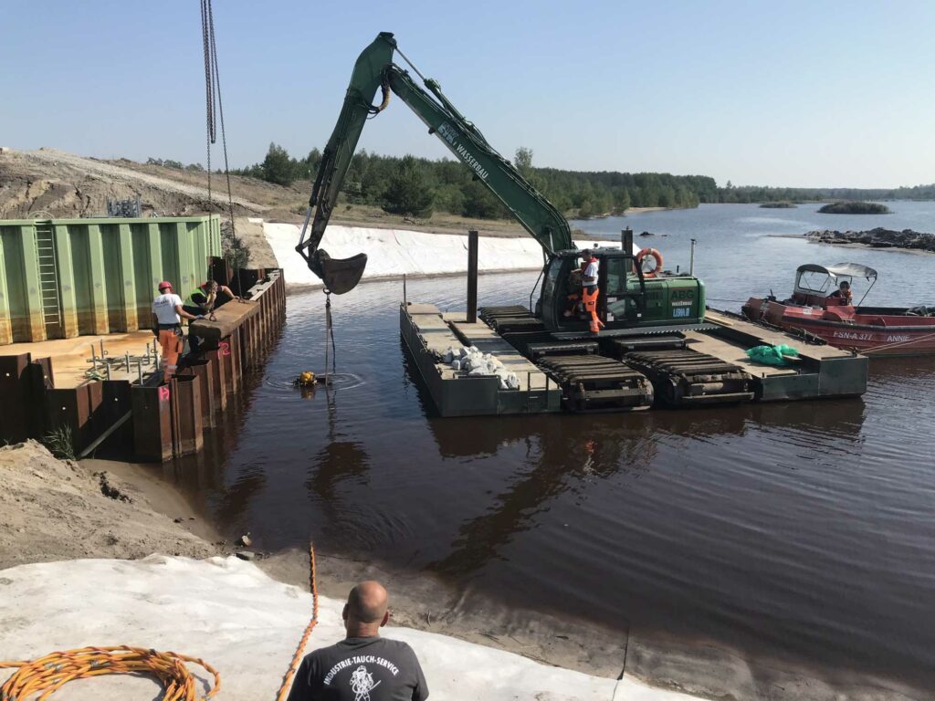
[[[394,63],[394,56],[422,80]],[[375,98],[381,93],[381,102]],[[335,130],[324,148],[309,209],[295,250],[324,281],[327,293],[350,292],[360,281],[367,254],[332,258],[321,248],[324,229],[338,201],[357,141],[368,119],[379,115],[395,94],[439,138],[473,178],[493,193],[542,248],[543,280],[533,307],[486,307],[482,320],[497,335],[568,390],[572,410],[648,408],[655,394],[669,404],[746,401],[753,397],[750,376],[736,365],[685,346],[683,332],[713,328],[705,323],[705,290],[686,274],[662,273],[654,252],[653,270],[645,270],[643,251],[634,253],[632,232],[618,248],[590,250],[597,258],[597,294],[583,290],[581,260],[562,213],[533,187],[487,141],[441,92],[381,32],[354,64]],[[314,215],[314,216],[312,216]],[[309,227],[310,223],[310,227]],[[574,297],[581,299],[575,301]]]

